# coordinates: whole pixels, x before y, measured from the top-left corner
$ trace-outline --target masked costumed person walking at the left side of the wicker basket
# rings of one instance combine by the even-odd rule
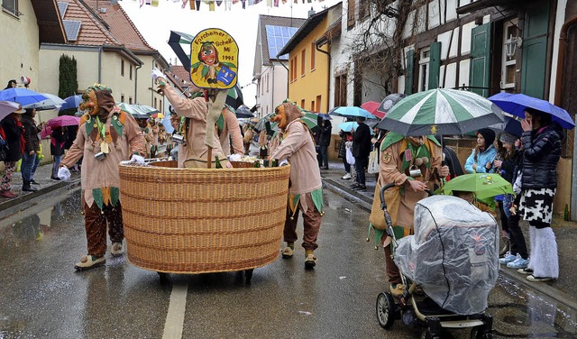
[[[106,224],[114,256],[124,253],[123,212],[120,202],[119,164],[123,160],[144,163],[144,139],[132,115],[114,105],[112,90],[88,87],[79,108],[78,133],[60,161],[59,178],[69,178],[69,168],[82,160],[82,205],[87,232],[87,255],[75,265],[89,270],[105,264]]]

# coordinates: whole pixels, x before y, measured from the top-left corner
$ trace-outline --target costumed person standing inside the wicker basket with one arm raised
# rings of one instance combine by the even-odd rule
[[[152,78],[158,81],[160,90],[169,100],[174,112],[183,117],[179,126],[179,133],[184,137],[184,142],[179,144],[178,163],[179,167],[185,167],[186,160],[207,160],[208,146],[205,144],[206,133],[214,133],[214,140],[218,139],[215,126],[206,126],[206,115],[213,105],[204,96],[193,98],[181,97],[169,86],[163,74],[154,73]],[[212,151],[212,160],[218,157],[223,167],[232,167],[226,160],[220,142],[215,142]],[[206,167],[206,165],[205,165]]]

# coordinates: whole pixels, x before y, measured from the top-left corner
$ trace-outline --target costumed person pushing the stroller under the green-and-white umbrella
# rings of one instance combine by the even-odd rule
[[[413,213],[417,202],[427,197],[426,190],[433,190],[439,178],[449,175],[449,168],[442,166],[441,144],[432,135],[404,137],[389,132],[380,144],[379,179],[375,187],[371,207],[371,226],[375,227],[376,241],[380,240],[385,250],[387,276],[390,292],[398,297],[403,294],[398,267],[391,257],[392,243],[384,233],[386,224],[380,208],[380,188],[394,183],[394,188],[385,191],[385,202],[397,239],[414,234]]]

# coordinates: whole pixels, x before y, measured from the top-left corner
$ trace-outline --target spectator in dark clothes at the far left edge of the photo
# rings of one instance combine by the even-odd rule
[[[16,169],[16,162],[22,159],[24,152],[24,127],[20,123],[25,110],[21,107],[0,121],[0,137],[5,141],[6,157],[5,169],[0,181],[0,197],[12,199],[18,197],[10,189],[12,173]]]

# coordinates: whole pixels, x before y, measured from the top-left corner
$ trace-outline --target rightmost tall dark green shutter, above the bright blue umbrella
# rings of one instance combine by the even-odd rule
[[[521,47],[523,50],[521,93],[540,99],[545,97],[548,25],[549,5],[547,3],[527,8]]]

